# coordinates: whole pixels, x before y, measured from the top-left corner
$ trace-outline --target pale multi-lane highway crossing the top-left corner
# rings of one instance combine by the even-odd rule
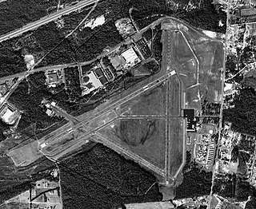
[[[54,14],[50,14],[50,15],[46,16],[45,18],[41,18],[36,22],[32,22],[32,23],[22,27],[21,29],[14,30],[14,31],[10,32],[9,34],[2,35],[0,37],[0,42],[5,41],[6,39],[9,39],[12,37],[17,37],[18,35],[23,34],[29,30],[34,30],[34,29],[38,28],[39,26],[42,26],[48,22],[52,22],[52,21],[62,17],[62,15],[64,15],[64,14],[70,14],[71,12],[74,12],[75,10],[79,10],[82,7],[89,6],[90,4],[93,4],[98,1],[99,0],[84,0],[82,2],[78,2],[74,6],[66,6],[66,8],[59,10],[58,12],[56,12]]]

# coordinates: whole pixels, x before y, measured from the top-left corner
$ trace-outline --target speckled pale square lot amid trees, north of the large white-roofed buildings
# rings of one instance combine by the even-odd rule
[[[118,32],[122,37],[127,37],[135,33],[134,26],[129,18],[119,19],[114,25],[117,27]]]

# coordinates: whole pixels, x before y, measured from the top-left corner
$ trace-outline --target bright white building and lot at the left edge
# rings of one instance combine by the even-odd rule
[[[1,108],[0,117],[6,124],[14,124],[18,120],[19,116],[18,110],[11,107],[10,104],[5,104]]]

